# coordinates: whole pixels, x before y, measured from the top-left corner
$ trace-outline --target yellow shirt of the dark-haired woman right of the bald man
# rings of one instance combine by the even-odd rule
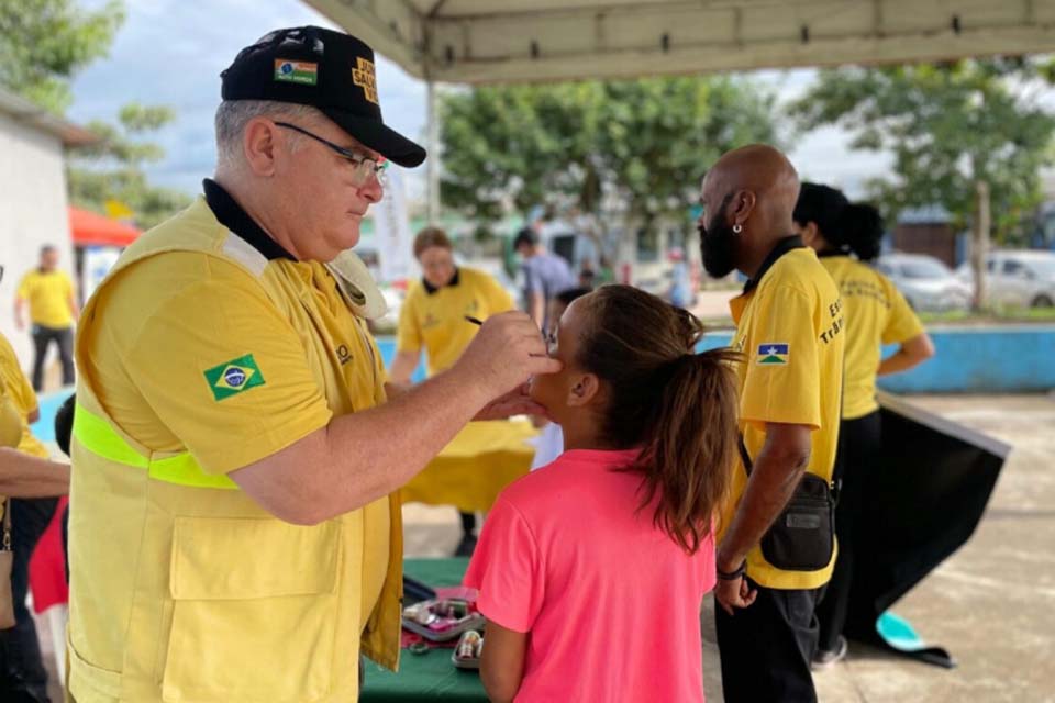
[[[920,319],[886,276],[848,256],[821,256],[843,295],[846,316],[846,382],[843,417],[856,420],[879,410],[876,372],[884,344],[901,344],[923,334]]]

